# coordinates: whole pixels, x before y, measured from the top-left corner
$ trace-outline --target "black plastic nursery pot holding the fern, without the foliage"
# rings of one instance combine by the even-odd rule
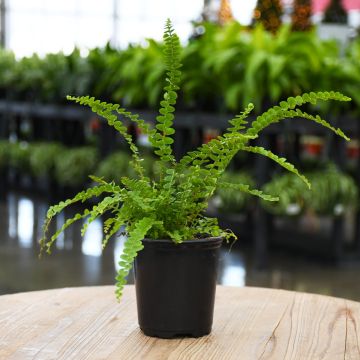
[[[134,269],[138,320],[145,335],[200,337],[211,332],[222,240],[143,240]]]

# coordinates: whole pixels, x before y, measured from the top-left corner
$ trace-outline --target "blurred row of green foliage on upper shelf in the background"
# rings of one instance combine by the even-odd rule
[[[260,113],[289,96],[334,89],[351,96],[354,104],[348,110],[359,114],[359,40],[343,51],[335,41],[321,40],[316,29],[294,32],[283,25],[274,36],[261,25],[251,30],[236,22],[202,26],[201,37],[179,48],[179,109],[240,111],[252,101]],[[70,55],[35,54],[19,60],[1,50],[0,95],[64,103],[69,93],[89,93],[131,108],[154,109],[161,101],[166,71],[163,46],[150,39],[147,46],[124,50],[95,48],[86,57],[75,49]]]

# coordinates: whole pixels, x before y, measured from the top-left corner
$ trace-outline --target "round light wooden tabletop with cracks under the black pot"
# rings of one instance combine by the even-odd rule
[[[360,304],[261,288],[217,289],[213,332],[198,339],[144,336],[135,291],[114,287],[0,297],[0,359],[360,359]]]

